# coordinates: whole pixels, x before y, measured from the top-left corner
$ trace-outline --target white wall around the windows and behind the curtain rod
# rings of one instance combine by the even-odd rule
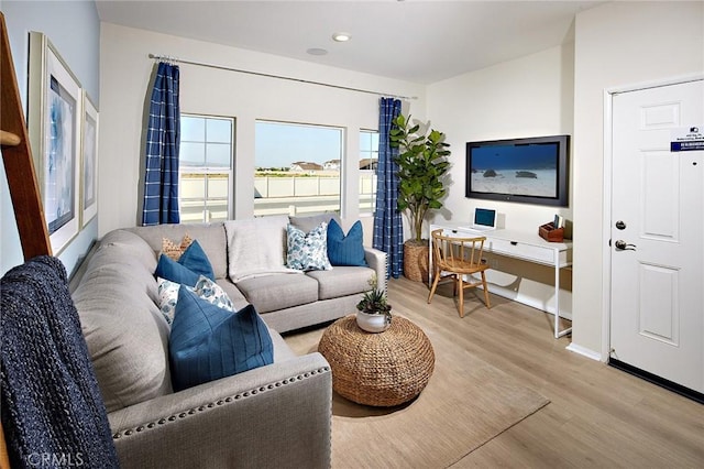
[[[143,113],[154,61],[148,54],[284,75],[340,86],[419,97],[406,103],[425,112],[425,87],[200,41],[102,23],[100,113],[100,236],[138,223]],[[358,217],[359,129],[378,127],[378,96],[188,64],[180,66],[182,112],[237,118],[234,217],[253,215],[254,123],[271,119],[344,127],[343,218]],[[139,218],[140,217],[140,218]],[[370,219],[364,226],[371,236]],[[370,238],[371,239],[371,238]]]

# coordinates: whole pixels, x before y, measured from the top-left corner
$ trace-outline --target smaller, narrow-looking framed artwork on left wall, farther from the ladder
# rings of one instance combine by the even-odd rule
[[[80,210],[85,227],[98,214],[98,110],[84,91]]]

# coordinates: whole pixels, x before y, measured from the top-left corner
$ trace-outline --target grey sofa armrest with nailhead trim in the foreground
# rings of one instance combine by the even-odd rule
[[[309,353],[108,417],[123,469],[328,468],[332,375]]]

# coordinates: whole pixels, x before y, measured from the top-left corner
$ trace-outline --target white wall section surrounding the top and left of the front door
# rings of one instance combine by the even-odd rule
[[[574,330],[601,352],[604,305],[604,91],[704,74],[704,3],[610,2],[575,22]]]

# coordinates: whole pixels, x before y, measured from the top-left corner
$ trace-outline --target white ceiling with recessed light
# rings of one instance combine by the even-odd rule
[[[570,41],[603,1],[97,0],[101,21],[419,84]],[[352,39],[336,42],[332,34]],[[309,50],[324,50],[311,55]],[[168,53],[168,52],[164,52]],[[194,57],[188,57],[194,58]]]

